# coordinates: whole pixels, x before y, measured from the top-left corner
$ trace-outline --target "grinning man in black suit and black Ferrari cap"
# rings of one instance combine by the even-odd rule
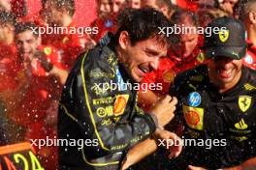
[[[256,72],[242,66],[244,26],[229,17],[214,19],[208,26],[224,26],[227,31],[205,38],[208,66],[178,75],[171,94],[179,99],[177,118],[184,126],[184,138],[218,139],[218,144],[212,143],[210,149],[186,146],[174,167],[255,167]]]

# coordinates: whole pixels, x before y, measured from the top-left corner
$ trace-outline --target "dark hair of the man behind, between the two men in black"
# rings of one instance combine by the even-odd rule
[[[182,21],[185,17],[189,17],[192,23],[198,27],[200,26],[198,15],[188,10],[177,10],[171,17],[171,20],[177,24]]]

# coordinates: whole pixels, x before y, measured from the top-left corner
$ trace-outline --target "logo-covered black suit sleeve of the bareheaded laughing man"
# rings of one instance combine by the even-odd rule
[[[80,137],[98,141],[97,146],[83,149],[105,156],[149,137],[155,124],[137,106],[136,95],[111,87],[116,71],[109,60],[93,56],[80,57],[65,85],[60,110],[80,128]]]

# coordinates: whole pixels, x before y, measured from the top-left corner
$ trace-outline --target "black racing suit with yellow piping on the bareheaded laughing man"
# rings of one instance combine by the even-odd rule
[[[152,117],[137,106],[134,83],[118,62],[112,42],[104,39],[80,56],[64,87],[58,137],[87,143],[81,150],[59,146],[60,169],[117,169],[127,150],[156,128]]]

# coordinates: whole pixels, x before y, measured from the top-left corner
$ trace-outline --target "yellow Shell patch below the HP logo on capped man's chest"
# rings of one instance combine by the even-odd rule
[[[203,130],[204,109],[183,105],[183,114],[188,127]]]

